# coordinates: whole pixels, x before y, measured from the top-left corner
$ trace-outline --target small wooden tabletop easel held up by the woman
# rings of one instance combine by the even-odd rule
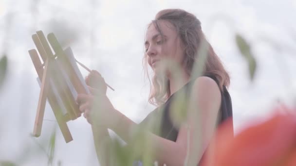
[[[69,76],[68,79],[70,79],[70,82],[73,84],[77,93],[88,94],[89,91],[87,88],[84,88],[85,86],[83,86],[83,83],[79,80],[74,67],[70,62],[71,59],[66,56],[54,33],[49,33],[47,39],[52,49],[55,51],[55,54],[52,52],[42,31],[38,31],[36,34],[33,34],[32,38],[43,61],[42,64],[35,49],[29,50],[37,75],[41,81],[33,134],[36,137],[41,134],[45,103],[48,99],[48,102],[56,116],[58,126],[66,143],[68,143],[72,141],[73,138],[67,126],[67,122],[81,116],[81,113],[77,103],[75,102],[72,91],[66,82],[63,72]],[[61,101],[56,98],[55,92],[57,92],[60,96],[62,104]],[[65,115],[61,111],[62,107],[64,107],[67,111]]]

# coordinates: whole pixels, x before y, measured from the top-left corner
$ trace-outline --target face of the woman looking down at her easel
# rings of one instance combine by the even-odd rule
[[[151,24],[145,41],[147,61],[156,74],[170,72],[176,64],[181,66],[184,55],[184,47],[175,27],[166,20],[159,20],[158,26],[164,38],[162,39],[154,24]]]

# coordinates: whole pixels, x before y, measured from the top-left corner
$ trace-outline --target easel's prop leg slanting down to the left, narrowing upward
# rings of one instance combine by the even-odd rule
[[[39,101],[37,106],[37,114],[35,118],[35,125],[34,125],[34,131],[33,134],[38,137],[41,134],[42,129],[42,122],[44,117],[44,109],[47,99],[47,92],[48,92],[48,65],[49,60],[46,60],[44,70],[43,70],[43,76],[42,76],[42,82],[41,82],[41,88],[40,88],[40,94],[39,94]]]

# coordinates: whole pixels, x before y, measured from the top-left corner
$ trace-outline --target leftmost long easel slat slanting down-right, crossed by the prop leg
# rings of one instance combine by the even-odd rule
[[[40,61],[39,56],[37,54],[37,51],[35,49],[29,50],[29,54],[30,54],[30,57],[31,57],[33,64],[36,68],[37,75],[38,75],[39,79],[43,80],[42,79],[43,78],[43,67],[40,67],[42,64],[41,64],[41,61]],[[62,112],[60,111],[61,107],[58,105],[58,102],[56,100],[55,95],[53,94],[53,90],[52,90],[52,87],[50,84],[48,84],[47,98],[48,98],[49,104],[51,105],[51,108],[54,112],[54,115],[56,116],[58,126],[64,136],[65,141],[67,143],[72,141],[73,140],[72,135],[69,131],[66,121],[64,120],[64,116],[63,116]]]

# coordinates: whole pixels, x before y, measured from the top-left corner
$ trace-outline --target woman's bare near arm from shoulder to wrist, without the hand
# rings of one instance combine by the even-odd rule
[[[198,163],[214,133],[221,104],[217,83],[208,77],[200,77],[195,81],[192,92],[188,118],[180,128],[176,142],[143,131],[149,140],[149,148],[153,149],[154,160],[161,165],[181,166],[185,160],[187,163]],[[115,116],[118,120],[111,130],[128,144],[133,144],[131,131],[138,125],[120,112],[116,112]]]

